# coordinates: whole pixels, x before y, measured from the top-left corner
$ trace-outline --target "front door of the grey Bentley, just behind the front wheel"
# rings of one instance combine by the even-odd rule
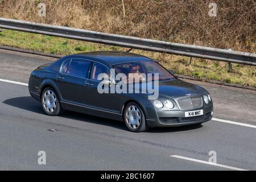
[[[108,87],[106,89],[109,90],[109,93],[98,92],[98,85],[101,82],[101,80],[98,80],[98,76],[101,73],[105,73],[110,78],[110,70],[106,65],[93,62],[90,75],[85,85],[86,93],[88,93],[86,102],[88,105],[96,107],[97,109],[119,113],[123,105],[122,96],[121,94],[110,93],[110,88],[115,85],[110,86],[109,84],[104,84],[104,86]]]

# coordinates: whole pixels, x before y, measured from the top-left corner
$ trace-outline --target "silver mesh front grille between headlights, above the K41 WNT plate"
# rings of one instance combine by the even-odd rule
[[[203,99],[200,96],[189,96],[177,100],[181,110],[196,109],[203,106]]]

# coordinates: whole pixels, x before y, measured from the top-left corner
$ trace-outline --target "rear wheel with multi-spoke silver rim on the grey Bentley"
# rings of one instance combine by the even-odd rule
[[[41,96],[43,110],[48,115],[63,114],[63,109],[60,105],[59,97],[55,89],[47,87],[43,90]]]

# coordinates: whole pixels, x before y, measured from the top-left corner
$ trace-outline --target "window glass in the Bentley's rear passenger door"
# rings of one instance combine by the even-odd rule
[[[67,73],[73,76],[86,78],[90,61],[81,59],[72,59]]]

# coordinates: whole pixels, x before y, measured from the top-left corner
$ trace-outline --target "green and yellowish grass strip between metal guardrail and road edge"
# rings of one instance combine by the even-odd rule
[[[2,46],[11,46],[60,55],[99,50],[127,50],[127,48],[117,46],[106,46],[103,44],[94,44],[79,40],[56,38],[12,30],[2,30],[0,32],[0,44]],[[164,53],[141,51],[137,49],[134,49],[131,52],[151,57],[152,59],[159,61],[159,63],[163,64],[166,68],[174,70],[175,74],[193,76],[199,80],[218,80],[232,84],[253,86],[256,88],[256,67],[253,66],[233,64],[233,69],[229,72],[228,63],[221,61],[192,58],[191,64],[189,64],[189,57],[167,55]]]

